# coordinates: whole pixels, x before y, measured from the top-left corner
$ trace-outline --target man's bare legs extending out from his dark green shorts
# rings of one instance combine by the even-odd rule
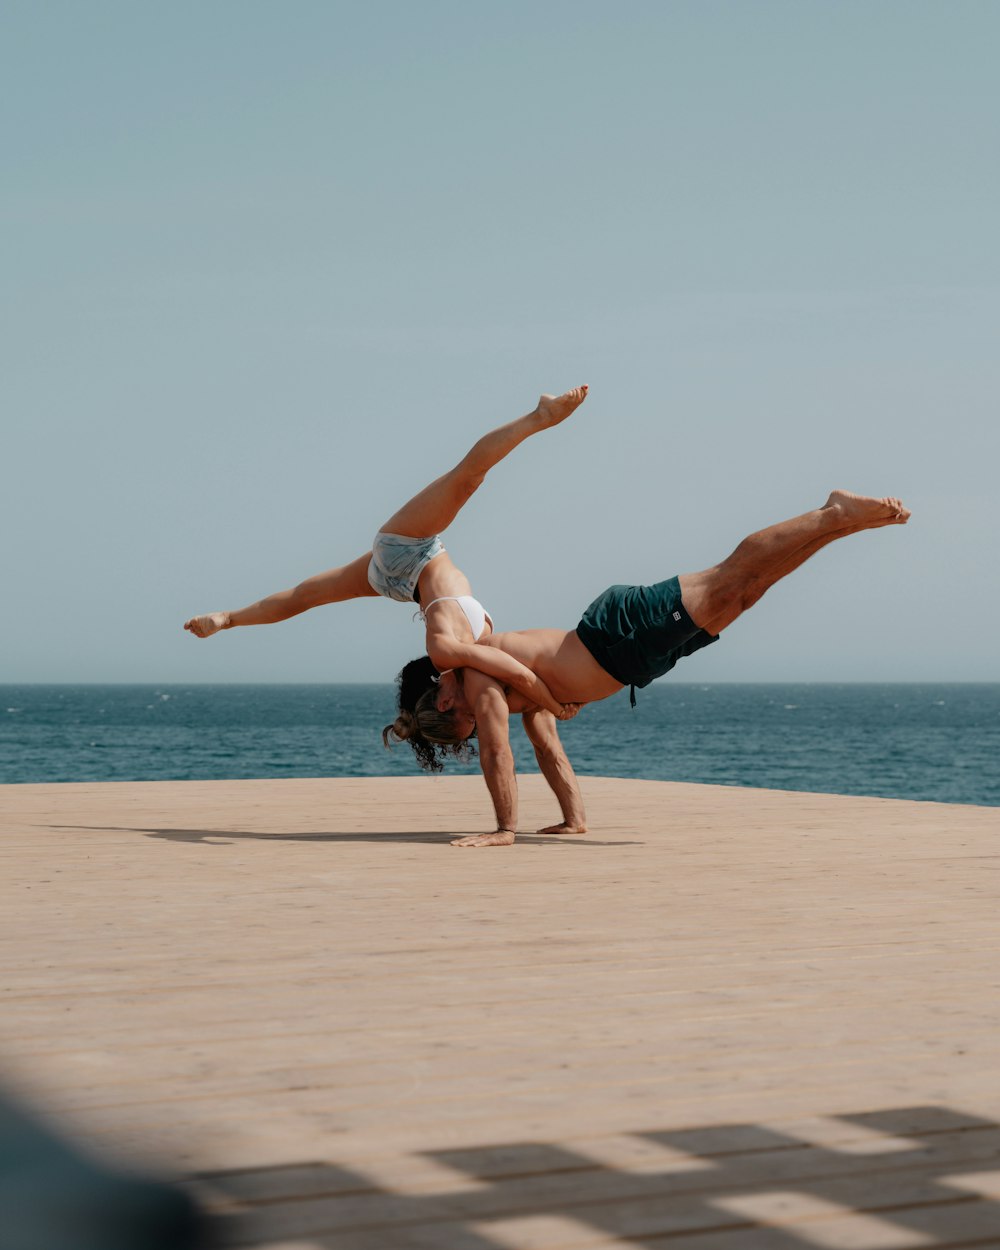
[[[720,634],[820,548],[861,530],[905,525],[909,519],[898,499],[835,490],[822,508],[751,534],[715,568],[682,574],[681,600],[700,629]]]

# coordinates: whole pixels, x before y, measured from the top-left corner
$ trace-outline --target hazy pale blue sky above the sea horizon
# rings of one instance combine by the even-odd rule
[[[445,535],[499,629],[834,544],[686,681],[1000,680],[1000,5],[8,0],[0,681],[389,681],[344,564],[542,391]],[[668,679],[670,680],[670,679]]]

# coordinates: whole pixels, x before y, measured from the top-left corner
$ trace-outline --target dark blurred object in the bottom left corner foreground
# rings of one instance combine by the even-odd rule
[[[0,1094],[2,1250],[200,1250],[205,1222],[179,1189],[119,1171]]]

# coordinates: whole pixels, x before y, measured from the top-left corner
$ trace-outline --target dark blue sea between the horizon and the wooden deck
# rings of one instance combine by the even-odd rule
[[[379,776],[389,685],[0,686],[0,782]],[[518,769],[536,771],[519,718]],[[1000,806],[1000,684],[662,681],[561,726],[578,772]],[[475,764],[451,771],[475,771]]]

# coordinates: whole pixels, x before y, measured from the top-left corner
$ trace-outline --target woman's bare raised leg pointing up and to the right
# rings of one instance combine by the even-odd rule
[[[532,412],[484,435],[454,469],[394,512],[382,530],[409,539],[430,538],[446,530],[494,465],[532,434],[565,421],[584,402],[586,392],[586,386],[576,386],[565,395],[542,395]]]

